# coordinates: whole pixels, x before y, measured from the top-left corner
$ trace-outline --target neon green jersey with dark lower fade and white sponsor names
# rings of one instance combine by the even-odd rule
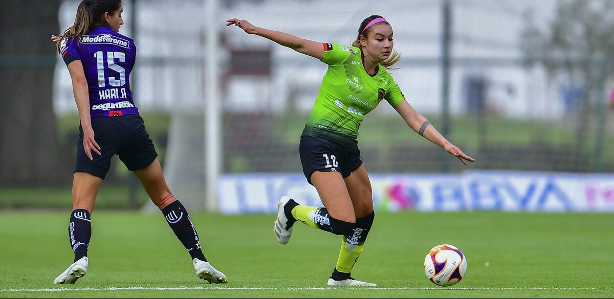
[[[363,116],[381,100],[391,105],[405,100],[397,83],[383,66],[375,75],[362,65],[360,48],[341,44],[322,44],[328,70],[316,103],[301,136],[324,139],[334,145],[357,148],[358,129]]]

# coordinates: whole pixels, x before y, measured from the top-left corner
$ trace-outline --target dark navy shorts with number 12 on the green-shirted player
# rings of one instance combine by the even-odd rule
[[[301,136],[298,151],[309,184],[312,184],[311,175],[316,171],[340,172],[343,178],[347,178],[362,165],[359,149],[340,148],[311,136]]]

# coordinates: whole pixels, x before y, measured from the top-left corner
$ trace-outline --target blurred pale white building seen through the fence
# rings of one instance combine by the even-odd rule
[[[202,111],[204,92],[204,1],[138,0],[133,74],[135,102],[141,110]],[[130,0],[124,1],[125,25],[131,36]],[[63,28],[72,25],[79,1],[66,1],[60,10]],[[451,112],[465,113],[476,105],[512,118],[559,118],[564,112],[556,88],[546,86],[543,71],[530,72],[519,64],[519,34],[523,12],[534,9],[547,22],[555,1],[453,0],[453,58],[450,81]],[[363,18],[383,15],[395,32],[395,50],[402,55],[400,70],[392,72],[410,103],[422,113],[441,110],[441,1],[219,1],[216,23],[220,34],[220,83],[223,108],[235,112],[308,112],[326,65],[270,40],[249,36],[228,18],[288,32],[320,42],[351,44]],[[239,54],[239,56],[237,56]],[[256,55],[258,54],[258,55]],[[252,56],[250,56],[252,55]],[[260,59],[255,59],[259,57]],[[241,59],[243,58],[243,60]],[[246,66],[249,64],[249,66]],[[235,72],[237,67],[255,71]],[[58,58],[55,108],[76,112],[68,71]],[[481,94],[470,100],[469,94]],[[384,105],[383,105],[384,106]],[[375,113],[390,113],[379,108]]]

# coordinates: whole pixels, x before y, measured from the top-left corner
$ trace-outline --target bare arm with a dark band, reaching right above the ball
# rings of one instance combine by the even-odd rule
[[[411,107],[410,103],[408,103],[406,100],[403,100],[403,102],[395,105],[394,108],[397,110],[398,114],[405,119],[405,123],[407,123],[411,129],[422,135],[422,137],[427,138],[427,140],[430,142],[441,146],[448,151],[448,153],[453,154],[455,157],[461,160],[462,164],[467,165],[467,162],[465,161],[475,161],[475,159],[467,156],[461,151],[460,148],[457,148],[456,145],[453,145],[445,137],[443,137],[437,131],[437,129],[435,129],[435,127],[433,127],[424,116],[414,110],[414,108]]]

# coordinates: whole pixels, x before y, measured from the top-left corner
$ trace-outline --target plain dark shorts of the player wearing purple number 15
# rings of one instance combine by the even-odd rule
[[[101,156],[91,152],[94,159],[90,161],[87,157],[83,147],[83,128],[79,125],[74,172],[91,173],[104,180],[115,154],[130,171],[149,166],[158,156],[139,115],[92,118],[91,127],[94,130],[94,140],[101,148]]]

